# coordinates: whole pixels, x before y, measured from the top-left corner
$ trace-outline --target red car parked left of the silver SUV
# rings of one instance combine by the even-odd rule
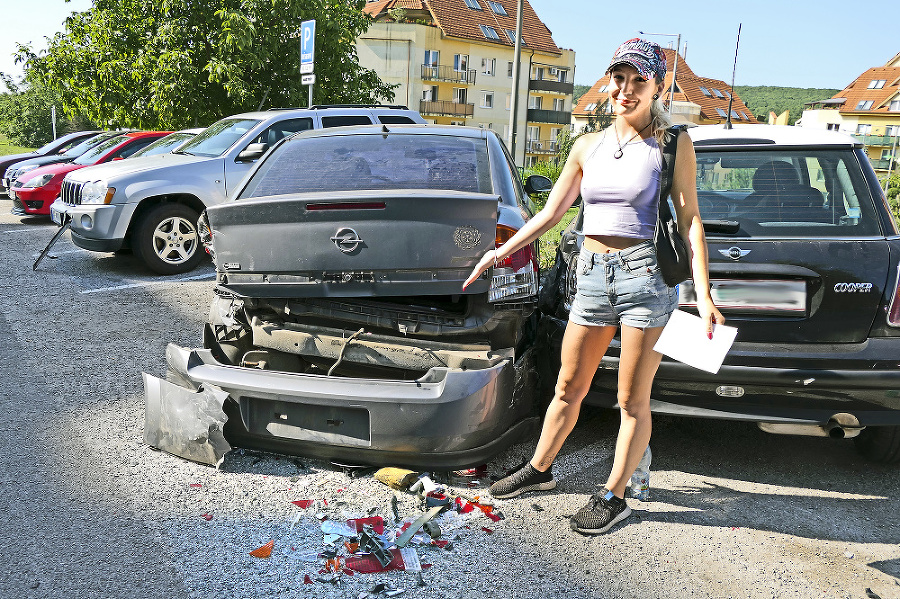
[[[17,216],[50,214],[50,204],[59,197],[62,180],[74,170],[128,158],[141,148],[164,137],[171,131],[132,131],[116,135],[88,150],[72,162],[48,164],[26,174],[25,180],[11,183],[14,196],[12,213]]]

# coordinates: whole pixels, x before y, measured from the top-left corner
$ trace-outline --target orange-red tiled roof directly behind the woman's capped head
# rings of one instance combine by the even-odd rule
[[[663,103],[668,104],[669,102],[669,88],[672,85],[672,67],[674,66],[674,55],[675,51],[669,48],[664,49],[666,55],[666,80],[663,89],[665,90],[663,94]],[[675,92],[674,99],[676,102],[693,102],[700,106],[700,116],[705,122],[725,122],[725,117],[719,115],[716,111],[717,108],[722,109],[725,113],[728,113],[728,94],[734,95],[734,102],[732,103],[731,109],[738,113],[743,113],[747,115],[750,120],[745,121],[744,119],[733,119],[734,122],[750,122],[756,123],[757,120],[753,115],[753,112],[747,108],[747,105],[740,99],[740,97],[735,94],[731,86],[725,83],[724,81],[720,81],[719,79],[710,79],[708,77],[699,77],[694,71],[687,65],[680,55],[678,56],[678,73],[676,74],[678,89],[680,91]],[[604,75],[601,77],[591,89],[581,96],[578,99],[578,104],[575,106],[573,110],[573,114],[579,117],[587,117],[591,111],[585,110],[585,106],[589,104],[600,104],[602,105],[609,98],[607,92],[600,92],[600,89],[609,84],[609,75]],[[712,93],[712,96],[707,96],[700,89],[701,87],[706,88]],[[720,98],[715,95],[713,92],[714,89],[722,92],[722,95],[725,96]],[[727,93],[726,93],[727,92]]]

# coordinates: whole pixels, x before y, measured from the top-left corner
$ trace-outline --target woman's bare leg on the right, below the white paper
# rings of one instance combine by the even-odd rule
[[[622,422],[616,439],[616,455],[606,488],[617,497],[634,474],[647,444],[653,424],[650,417],[650,388],[662,354],[653,350],[663,327],[639,329],[622,325],[619,359],[619,409]]]

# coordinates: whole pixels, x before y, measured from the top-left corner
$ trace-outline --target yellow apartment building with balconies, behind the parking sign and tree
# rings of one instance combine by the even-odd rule
[[[525,1],[515,161],[556,152],[571,123],[575,52],[557,46]],[[395,101],[432,123],[492,129],[513,146],[511,110],[516,0],[375,0],[374,23],[356,39],[360,64],[395,84]]]

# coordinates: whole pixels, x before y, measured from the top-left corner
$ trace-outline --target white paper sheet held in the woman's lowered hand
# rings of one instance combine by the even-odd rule
[[[735,336],[735,327],[716,324],[710,339],[706,324],[699,316],[675,310],[653,349],[673,360],[715,374],[719,372]]]

